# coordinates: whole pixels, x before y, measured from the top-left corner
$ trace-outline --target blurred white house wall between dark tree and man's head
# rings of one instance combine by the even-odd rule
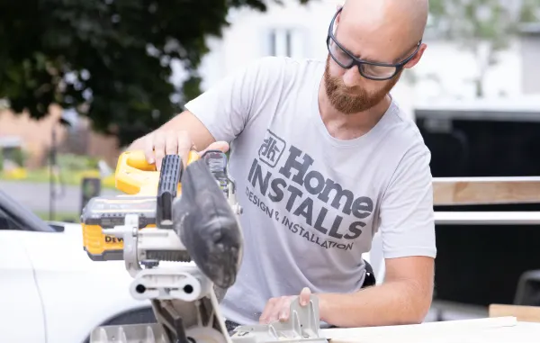
[[[230,14],[232,25],[225,30],[222,40],[209,40],[212,51],[200,69],[204,89],[247,62],[269,55],[269,32],[273,29],[289,29],[294,33],[295,57],[326,58],[326,33],[338,2],[312,0],[310,5],[299,5],[296,0],[287,0],[286,3],[269,5],[264,14],[246,9]]]

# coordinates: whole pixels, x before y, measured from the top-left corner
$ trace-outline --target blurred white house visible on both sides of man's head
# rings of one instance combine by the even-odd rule
[[[211,52],[203,59],[200,72],[202,88],[208,89],[220,78],[247,62],[264,56],[326,59],[326,36],[338,0],[313,0],[309,5],[297,1],[271,3],[266,13],[242,9],[231,12],[231,25],[222,40],[210,39]],[[529,30],[530,31],[530,30]],[[509,50],[500,53],[499,62],[484,76],[484,95],[518,97],[524,93],[540,93],[534,71],[540,57],[539,30],[512,42]],[[402,81],[393,90],[394,97],[413,115],[415,103],[437,99],[463,101],[475,95],[474,77],[482,60],[459,44],[446,41],[431,27],[425,34],[428,49],[419,64],[406,70]],[[540,70],[540,69],[538,69]],[[182,68],[175,65],[175,81],[182,79]]]

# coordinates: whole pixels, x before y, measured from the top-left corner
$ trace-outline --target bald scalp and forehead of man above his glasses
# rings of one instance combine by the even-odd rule
[[[394,59],[400,59],[414,50],[427,22],[428,0],[346,0],[338,19],[337,38],[347,41],[359,57],[376,59],[381,50],[386,50],[388,59],[392,59],[391,52]]]

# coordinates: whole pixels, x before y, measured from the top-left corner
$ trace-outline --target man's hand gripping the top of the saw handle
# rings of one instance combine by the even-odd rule
[[[210,131],[193,113],[184,111],[156,131],[133,141],[129,150],[136,149],[144,150],[148,163],[156,164],[159,171],[161,161],[166,155],[179,155],[185,164],[191,150],[197,151],[200,155],[210,149],[227,152],[229,143],[215,141]]]

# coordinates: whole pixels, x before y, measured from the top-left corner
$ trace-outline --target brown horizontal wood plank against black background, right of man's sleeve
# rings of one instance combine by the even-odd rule
[[[435,205],[540,203],[540,176],[434,177]]]

